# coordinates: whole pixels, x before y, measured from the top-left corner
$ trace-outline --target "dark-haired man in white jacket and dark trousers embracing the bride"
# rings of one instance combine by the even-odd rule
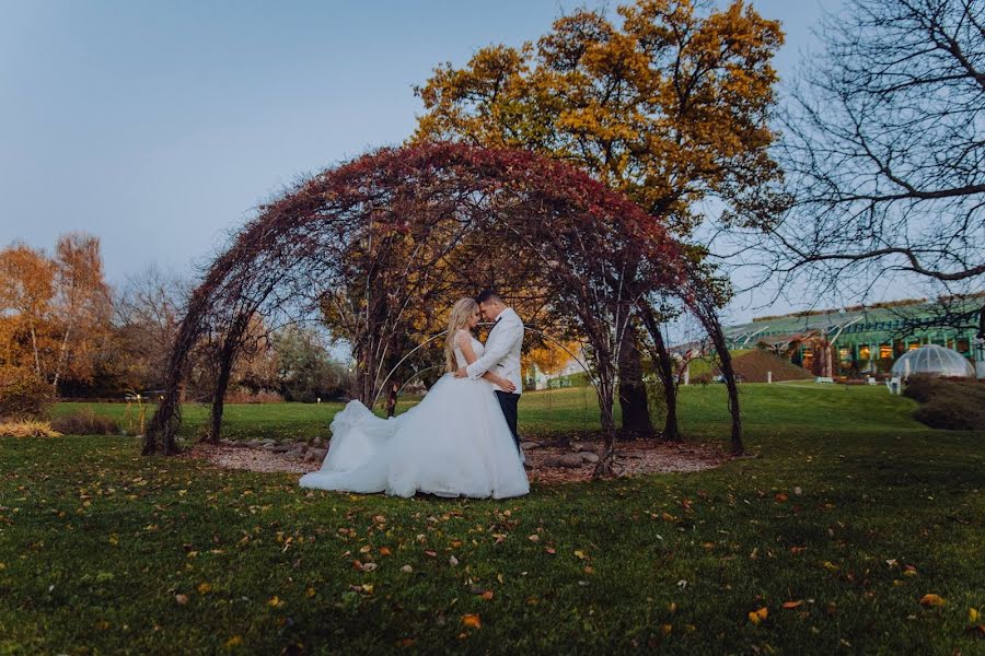
[[[517,433],[517,403],[520,401],[520,393],[523,388],[520,377],[523,321],[513,312],[513,308],[507,307],[499,294],[493,290],[485,290],[475,300],[479,304],[483,318],[487,321],[495,320],[496,325],[493,326],[489,337],[486,338],[486,353],[468,366],[463,366],[455,372],[455,377],[480,378],[483,374],[493,370],[512,383],[513,389],[509,390],[503,390],[498,385],[494,387],[507,424],[513,434],[513,442],[517,443],[517,449],[520,450],[520,435]],[[520,453],[522,456],[523,452]]]

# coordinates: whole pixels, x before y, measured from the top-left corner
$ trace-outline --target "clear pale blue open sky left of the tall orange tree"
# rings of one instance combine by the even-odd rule
[[[580,4],[0,0],[0,244],[84,230],[113,283],[187,271],[298,176],[402,142],[436,65]],[[752,4],[783,22],[789,75],[841,0]]]

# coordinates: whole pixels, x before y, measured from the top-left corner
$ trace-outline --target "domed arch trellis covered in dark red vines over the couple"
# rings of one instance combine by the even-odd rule
[[[490,283],[535,290],[545,312],[583,338],[611,445],[622,336],[653,295],[696,306],[692,270],[660,220],[561,162],[452,143],[363,155],[262,207],[213,261],[178,329],[144,453],[176,450],[188,355],[206,338],[217,438],[256,315],[343,328],[356,360],[352,396],[369,405],[408,331],[428,332],[451,301]]]

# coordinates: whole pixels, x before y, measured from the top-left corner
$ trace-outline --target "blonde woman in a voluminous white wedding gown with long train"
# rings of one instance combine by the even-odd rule
[[[444,353],[447,371],[420,403],[390,419],[349,401],[332,422],[322,468],[301,477],[302,488],[386,492],[414,496],[505,499],[530,492],[526,472],[493,385],[511,388],[495,374],[455,378],[454,372],[485,352],[471,331],[478,304],[462,298],[451,309]]]

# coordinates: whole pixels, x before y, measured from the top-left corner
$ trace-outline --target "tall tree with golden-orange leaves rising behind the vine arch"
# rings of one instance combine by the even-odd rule
[[[425,113],[415,139],[524,148],[573,163],[681,238],[705,219],[702,201],[752,204],[750,189],[778,176],[767,118],[779,24],[741,0],[722,10],[638,0],[617,14],[621,25],[579,10],[536,44],[490,46],[462,68],[438,67],[417,89]],[[619,400],[624,429],[637,433],[649,430],[649,413],[633,328],[621,350]]]

